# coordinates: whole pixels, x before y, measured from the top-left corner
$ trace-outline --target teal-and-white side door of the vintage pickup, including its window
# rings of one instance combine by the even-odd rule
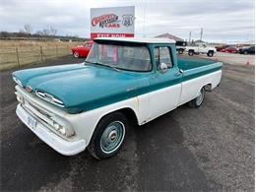
[[[174,58],[172,55],[174,53],[175,50],[169,46],[155,47],[153,62],[156,63],[156,73],[150,79],[153,89],[150,93],[150,119],[156,118],[177,106],[181,94],[182,73],[177,66],[173,65]],[[167,66],[164,72],[160,69],[161,63]]]

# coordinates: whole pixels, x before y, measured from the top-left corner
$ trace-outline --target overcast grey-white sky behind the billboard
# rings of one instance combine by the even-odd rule
[[[91,8],[131,5],[136,36],[170,32],[187,39],[192,32],[198,39],[203,28],[208,41],[254,39],[253,0],[1,0],[0,30],[17,32],[29,24],[33,32],[52,26],[57,34],[89,37]]]

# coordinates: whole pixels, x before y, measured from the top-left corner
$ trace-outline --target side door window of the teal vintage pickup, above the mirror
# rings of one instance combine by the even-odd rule
[[[165,63],[168,68],[172,68],[172,60],[170,58],[170,49],[167,46],[160,46],[155,48],[155,60],[157,69],[159,69],[160,63]]]

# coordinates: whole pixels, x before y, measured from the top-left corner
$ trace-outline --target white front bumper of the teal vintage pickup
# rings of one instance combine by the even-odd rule
[[[84,139],[66,141],[57,136],[55,133],[51,132],[39,121],[36,121],[36,126],[33,128],[28,123],[28,118],[31,116],[31,114],[25,110],[21,104],[18,104],[16,113],[23,123],[26,124],[40,140],[58,153],[64,156],[73,156],[86,149],[86,141]]]

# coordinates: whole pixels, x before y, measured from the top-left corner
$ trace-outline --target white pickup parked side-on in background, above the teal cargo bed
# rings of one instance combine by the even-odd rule
[[[214,56],[214,54],[217,52],[215,47],[210,47],[207,44],[197,44],[195,46],[186,46],[186,51],[190,56],[194,54],[207,54],[209,57]]]

